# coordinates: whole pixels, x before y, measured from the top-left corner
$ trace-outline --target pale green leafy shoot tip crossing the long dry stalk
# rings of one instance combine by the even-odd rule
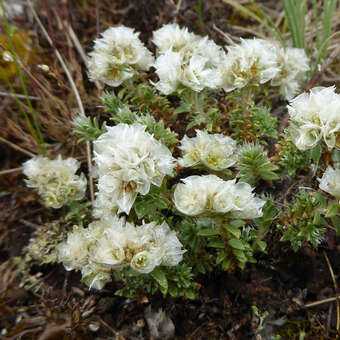
[[[96,118],[91,119],[91,117],[79,115],[73,120],[72,124],[73,133],[83,136],[78,140],[78,143],[96,140],[106,132],[106,123],[100,127]]]

